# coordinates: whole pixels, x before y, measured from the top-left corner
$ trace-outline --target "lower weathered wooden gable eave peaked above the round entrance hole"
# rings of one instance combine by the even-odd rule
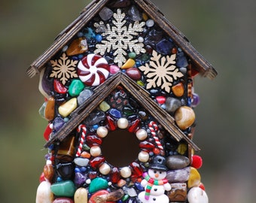
[[[175,125],[175,120],[168,114],[163,108],[160,108],[156,102],[154,102],[147,91],[141,86],[138,86],[130,77],[127,77],[126,74],[118,72],[114,76],[110,77],[105,83],[102,83],[96,89],[94,89],[94,94],[88,98],[84,104],[79,106],[72,114],[70,115],[71,119],[60,129],[56,134],[53,135],[53,138],[48,141],[44,147],[49,147],[50,144],[54,142],[62,141],[70,133],[78,127],[80,123],[83,122],[99,104],[111,94],[111,92],[119,85],[122,85],[126,88],[127,91],[136,98],[136,101],[145,108],[156,120],[159,122],[167,132],[172,135],[177,141],[181,139],[187,141],[194,150],[200,150],[178,126]]]

